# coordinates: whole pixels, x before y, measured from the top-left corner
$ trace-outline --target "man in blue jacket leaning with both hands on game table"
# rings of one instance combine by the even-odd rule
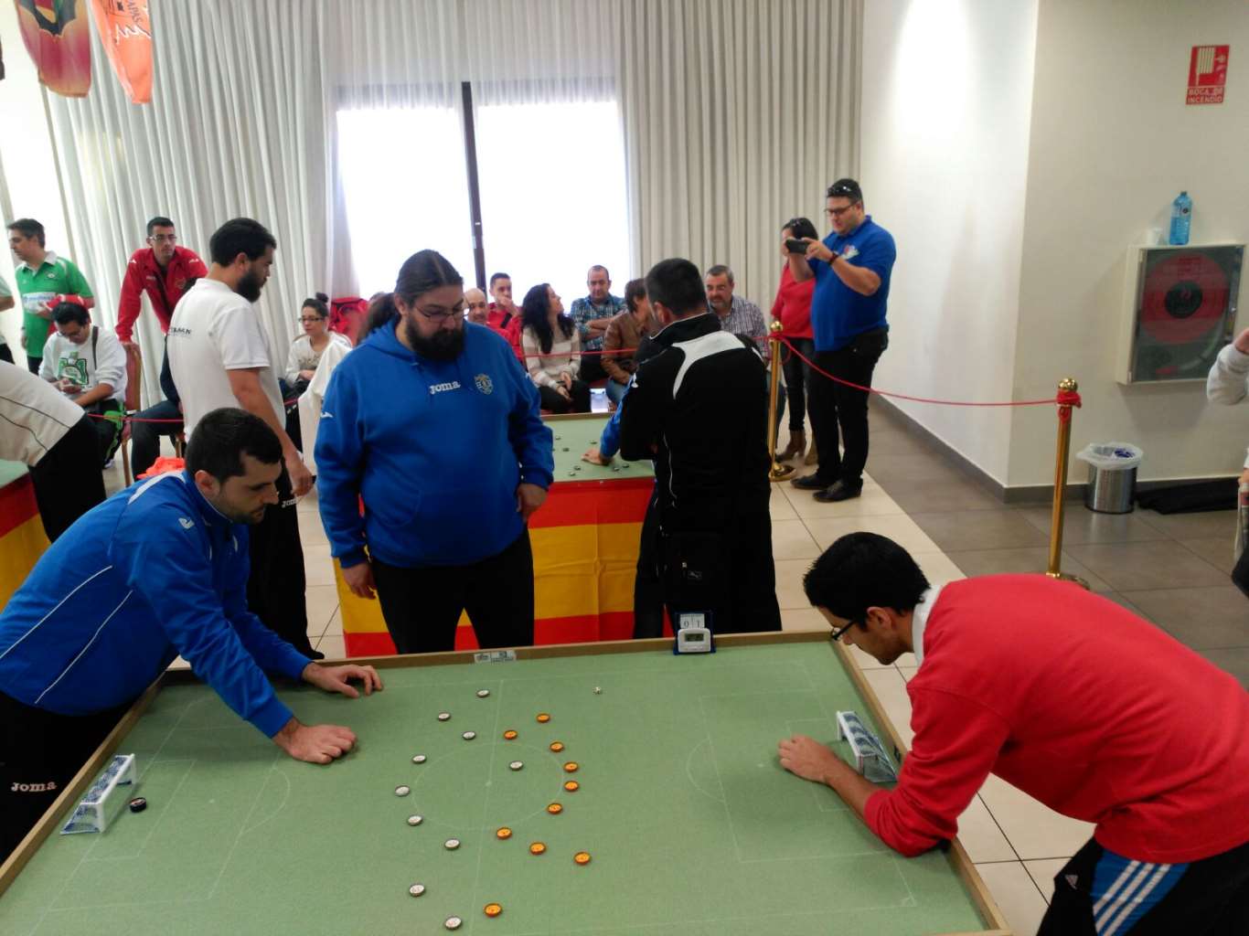
[[[356,696],[372,666],[320,666],[247,610],[247,524],[277,502],[277,436],[241,409],[199,423],[186,470],[115,494],[74,523],[0,613],[0,861],[121,713],[181,654],[292,758],[355,744],[302,725],[265,673]]]

